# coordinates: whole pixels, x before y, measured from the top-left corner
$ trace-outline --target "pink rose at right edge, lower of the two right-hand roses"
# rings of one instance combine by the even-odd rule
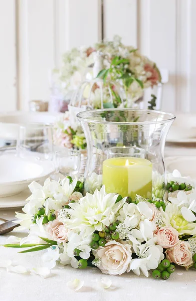
[[[170,262],[182,265],[186,269],[193,264],[189,243],[186,241],[179,241],[173,248],[167,249],[165,253]]]

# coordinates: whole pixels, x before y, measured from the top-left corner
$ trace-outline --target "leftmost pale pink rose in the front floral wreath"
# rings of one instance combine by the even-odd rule
[[[50,221],[46,227],[46,231],[49,233],[50,237],[57,242],[68,241],[70,229],[67,229],[65,225],[58,220]]]

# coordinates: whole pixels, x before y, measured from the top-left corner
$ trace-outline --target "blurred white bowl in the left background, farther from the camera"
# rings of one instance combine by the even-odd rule
[[[27,123],[53,124],[63,113],[50,112],[9,112],[0,113],[0,138],[17,140],[19,126]]]

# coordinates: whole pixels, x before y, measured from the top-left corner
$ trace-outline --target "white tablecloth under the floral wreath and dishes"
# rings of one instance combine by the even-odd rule
[[[196,156],[196,147],[166,146],[167,156]],[[195,167],[193,167],[195,168]],[[196,171],[195,171],[196,173]],[[10,219],[14,212],[1,211],[0,216]],[[13,235],[23,237],[24,233],[13,232]],[[5,243],[9,235],[0,236],[0,244]],[[0,246],[0,259],[11,259],[14,265],[21,264],[28,268],[39,266],[40,253],[19,254],[17,249],[8,249]],[[98,286],[96,279],[108,277],[112,285],[108,289]],[[75,292],[66,286],[67,281],[79,278],[84,281],[84,286]],[[84,270],[65,267],[54,268],[49,278],[39,275],[24,275],[7,273],[0,268],[0,301],[195,301],[196,300],[196,270],[186,271],[177,268],[168,280],[155,280],[151,277],[137,277],[133,273],[121,276],[103,275],[97,268]]]

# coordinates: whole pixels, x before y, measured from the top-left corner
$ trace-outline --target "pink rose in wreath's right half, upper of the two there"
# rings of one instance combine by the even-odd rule
[[[157,238],[157,244],[167,249],[174,247],[178,242],[178,232],[173,227],[162,227],[154,233]]]

